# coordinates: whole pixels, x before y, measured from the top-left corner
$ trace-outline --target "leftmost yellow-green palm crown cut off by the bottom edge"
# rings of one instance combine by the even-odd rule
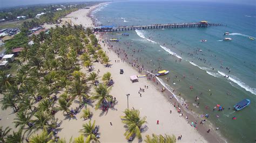
[[[43,129],[43,132],[41,134],[34,135],[31,139],[29,139],[29,142],[31,143],[50,143],[54,142],[52,139],[53,132],[50,134],[46,131],[46,129]]]

